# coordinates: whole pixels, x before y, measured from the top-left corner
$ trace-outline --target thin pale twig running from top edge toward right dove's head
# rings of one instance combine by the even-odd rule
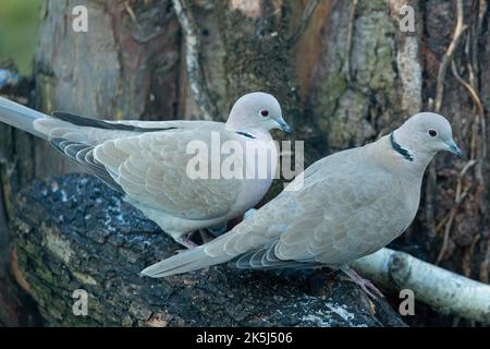
[[[457,8],[457,20],[456,27],[454,28],[453,39],[445,51],[441,65],[439,67],[438,80],[436,85],[436,101],[434,101],[434,111],[439,112],[441,110],[442,97],[444,95],[444,80],[445,80],[445,71],[448,70],[448,64],[453,58],[454,50],[460,43],[460,39],[463,33],[466,31],[467,25],[463,23],[463,0],[456,0]]]

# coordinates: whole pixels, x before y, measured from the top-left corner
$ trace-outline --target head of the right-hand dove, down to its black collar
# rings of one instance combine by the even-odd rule
[[[439,151],[448,151],[460,157],[463,152],[453,140],[449,121],[433,112],[419,112],[406,120],[391,134],[392,146],[412,160],[431,158]]]

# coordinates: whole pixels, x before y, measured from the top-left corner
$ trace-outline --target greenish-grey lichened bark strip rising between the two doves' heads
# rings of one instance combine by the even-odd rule
[[[350,7],[342,11],[350,11]],[[326,53],[327,74],[315,106],[318,127],[327,134],[331,151],[372,140],[378,133],[375,127],[383,127],[387,110],[396,109],[400,100],[395,33],[384,0],[358,2],[350,81],[343,69],[347,52],[342,40],[331,41]]]

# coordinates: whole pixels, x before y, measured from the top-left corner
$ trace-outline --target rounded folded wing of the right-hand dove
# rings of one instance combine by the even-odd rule
[[[296,197],[303,217],[273,248],[280,260],[341,265],[388,244],[408,225],[400,181],[384,170],[330,176]],[[412,220],[412,218],[409,218]]]

